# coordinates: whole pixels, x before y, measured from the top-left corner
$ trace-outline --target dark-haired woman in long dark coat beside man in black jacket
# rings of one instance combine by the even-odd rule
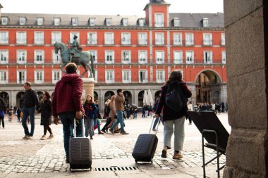
[[[51,100],[50,100],[50,94],[47,91],[44,91],[42,100],[41,100],[41,105],[39,112],[41,112],[41,123],[40,125],[44,126],[44,135],[41,137],[42,140],[47,139],[47,131],[49,131],[49,137],[48,139],[52,139],[54,135],[52,134],[51,128],[49,125],[51,125]]]

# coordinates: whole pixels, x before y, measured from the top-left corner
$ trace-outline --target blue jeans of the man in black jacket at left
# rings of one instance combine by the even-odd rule
[[[29,132],[28,126],[26,124],[27,117],[30,116],[30,123],[31,123],[31,132]],[[23,108],[23,119],[21,120],[23,125],[25,135],[33,136],[35,132],[35,107],[30,108]]]

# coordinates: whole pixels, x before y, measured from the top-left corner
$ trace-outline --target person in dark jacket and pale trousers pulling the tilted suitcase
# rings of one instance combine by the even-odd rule
[[[184,121],[185,121],[185,114],[188,110],[187,105],[180,110],[175,111],[169,108],[169,106],[165,103],[166,94],[169,91],[172,91],[174,87],[180,87],[183,91],[183,94],[187,98],[192,96],[190,89],[185,82],[182,80],[182,74],[180,71],[173,71],[169,75],[169,80],[164,84],[161,90],[161,97],[159,99],[159,103],[157,106],[157,111],[155,112],[154,117],[159,117],[160,113],[162,112],[162,119],[164,122],[164,148],[162,150],[162,158],[166,158],[167,150],[171,148],[171,136],[174,132],[174,154],[173,159],[180,159],[183,158],[181,154],[181,150],[183,149],[183,141],[184,141]],[[162,111],[163,108],[163,111]],[[174,131],[173,131],[174,127]]]

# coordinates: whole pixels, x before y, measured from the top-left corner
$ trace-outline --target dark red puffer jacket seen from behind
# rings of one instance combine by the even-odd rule
[[[52,97],[52,115],[56,117],[59,113],[82,111],[85,114],[81,103],[83,92],[83,80],[76,74],[66,74],[56,83]]]

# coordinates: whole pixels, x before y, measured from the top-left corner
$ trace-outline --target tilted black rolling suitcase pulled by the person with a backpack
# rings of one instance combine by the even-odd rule
[[[154,119],[152,120],[152,125],[154,123]],[[152,158],[154,158],[155,150],[157,149],[158,138],[157,138],[157,129],[159,126],[159,122],[157,123],[157,129],[155,134],[150,134],[152,125],[149,130],[149,134],[140,134],[136,141],[135,147],[133,149],[133,158],[135,162],[151,162]]]

